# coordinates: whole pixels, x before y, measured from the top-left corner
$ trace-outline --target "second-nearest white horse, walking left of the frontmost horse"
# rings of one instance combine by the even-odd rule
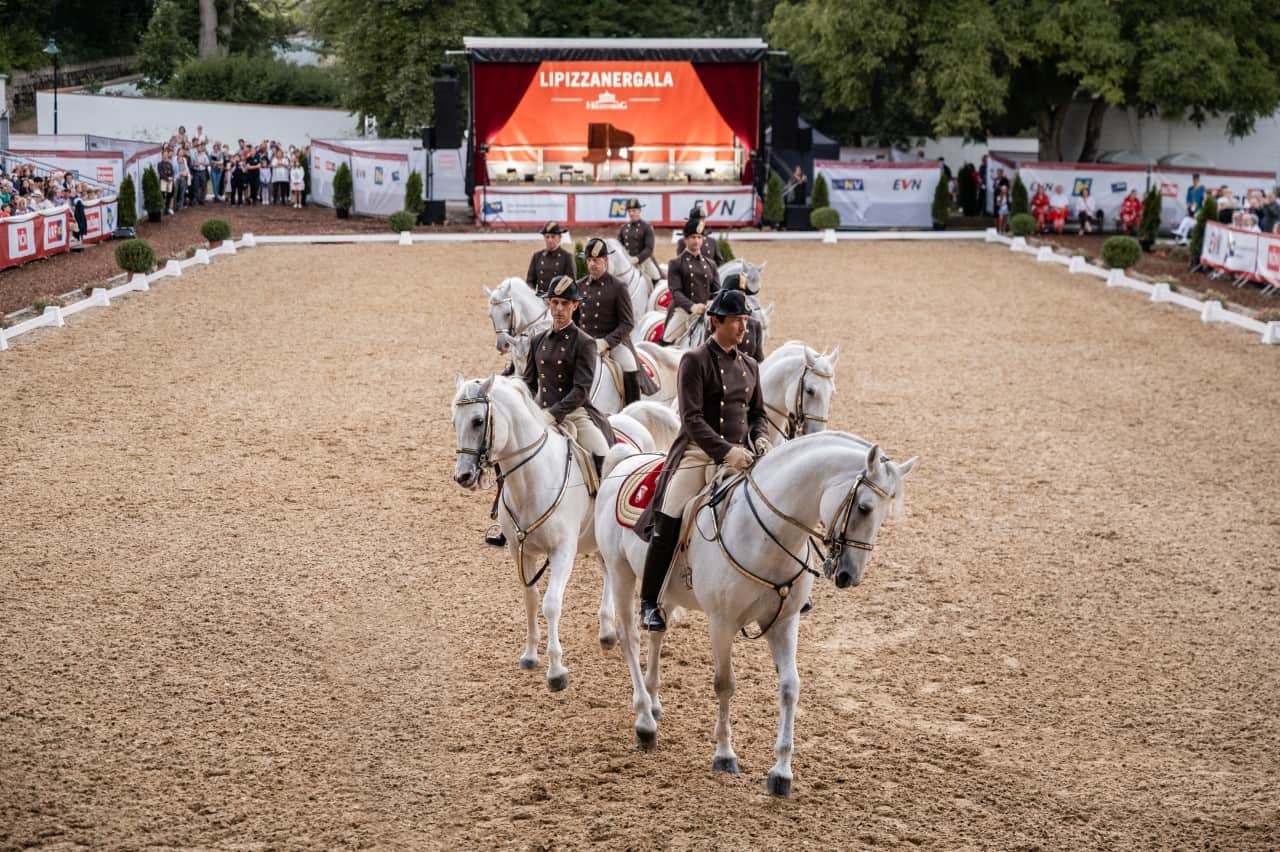
[[[547,573],[543,599],[547,686],[558,692],[568,686],[559,641],[564,588],[577,554],[595,551],[591,496],[570,439],[547,426],[541,409],[522,381],[500,376],[467,381],[460,374],[454,384],[453,427],[458,461],[453,480],[465,489],[477,489],[485,469],[493,464],[502,468],[498,523],[516,560],[527,619],[520,668],[538,668],[536,583]],[[539,568],[543,556],[545,562]],[[613,601],[608,595],[605,581],[600,597],[600,643],[605,646],[616,641]],[[607,622],[605,614],[609,614]]]

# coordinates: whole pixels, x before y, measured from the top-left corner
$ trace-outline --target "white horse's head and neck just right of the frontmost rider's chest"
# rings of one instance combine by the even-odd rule
[[[827,429],[837,361],[840,347],[818,354],[797,340],[769,353],[760,365],[760,395],[769,418],[771,443],[777,445]]]

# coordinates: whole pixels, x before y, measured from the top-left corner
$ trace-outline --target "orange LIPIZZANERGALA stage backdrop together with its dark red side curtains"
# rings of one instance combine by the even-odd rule
[[[758,63],[570,60],[472,68],[476,142],[502,148],[490,154],[495,161],[535,161],[539,148],[585,152],[588,125],[596,123],[635,137],[635,162],[666,162],[672,148],[677,161],[732,160],[735,138],[746,155],[756,145]],[[644,150],[650,146],[660,150]],[[712,147],[724,150],[710,155]],[[742,178],[749,182],[750,173]],[[475,156],[475,179],[488,183],[483,152]]]

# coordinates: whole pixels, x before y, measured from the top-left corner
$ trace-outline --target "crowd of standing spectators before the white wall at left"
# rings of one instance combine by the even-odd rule
[[[237,139],[236,145],[209,142],[205,128],[187,134],[179,127],[161,150],[156,166],[165,212],[205,202],[246,205],[289,205],[301,209],[306,189],[303,164],[308,148],[264,139],[257,145]]]

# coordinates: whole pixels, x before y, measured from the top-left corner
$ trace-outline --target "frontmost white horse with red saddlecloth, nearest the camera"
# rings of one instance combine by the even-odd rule
[[[620,484],[654,457],[627,453],[616,449],[605,463],[595,530],[631,673],[636,738],[649,748],[657,745],[662,715],[664,633],[649,635],[648,668],[641,675],[634,592],[648,545],[617,522],[614,503]],[[719,698],[713,769],[737,771],[728,715],[735,688],[732,646],[733,636],[754,622],[768,638],[778,673],[777,761],[769,770],[768,791],[791,793],[799,614],[817,576],[809,563],[817,551],[837,588],[860,583],[881,523],[901,512],[902,478],[914,466],[914,458],[896,464],[879,445],[847,432],[809,435],[772,450],[719,505],[698,512],[696,530],[687,549],[677,551],[662,604],[668,613],[676,606],[707,613]]]

